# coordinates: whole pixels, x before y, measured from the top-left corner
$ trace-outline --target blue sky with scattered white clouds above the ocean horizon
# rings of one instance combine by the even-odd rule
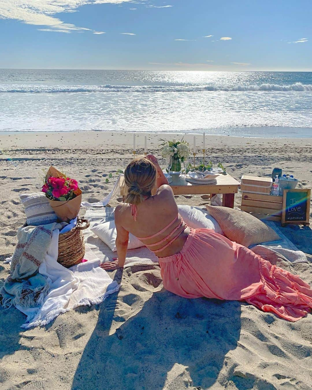
[[[312,71],[311,0],[0,0],[0,68]]]

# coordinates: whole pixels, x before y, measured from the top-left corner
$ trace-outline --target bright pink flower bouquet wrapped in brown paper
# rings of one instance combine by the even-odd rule
[[[58,219],[69,222],[78,216],[82,191],[76,180],[51,166],[44,179],[42,191]]]

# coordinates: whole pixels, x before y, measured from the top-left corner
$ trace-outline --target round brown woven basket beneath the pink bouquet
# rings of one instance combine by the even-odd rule
[[[57,262],[69,268],[79,264],[85,255],[85,241],[82,230],[88,229],[90,222],[77,218],[77,225],[58,238]]]

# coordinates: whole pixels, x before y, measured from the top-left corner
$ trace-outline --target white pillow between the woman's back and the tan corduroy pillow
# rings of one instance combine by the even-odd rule
[[[216,222],[215,218],[209,215],[206,210],[201,209],[200,207],[187,205],[180,205],[178,206],[178,209],[179,214],[183,218],[186,225],[189,227],[192,227],[193,229],[212,229],[216,233],[222,234],[222,236],[224,236],[224,233],[218,222]]]

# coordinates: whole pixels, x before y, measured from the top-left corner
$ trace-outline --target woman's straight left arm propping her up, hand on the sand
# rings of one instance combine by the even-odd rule
[[[117,238],[115,241],[117,248],[117,258],[114,258],[113,261],[105,262],[100,264],[100,267],[106,270],[113,270],[117,268],[123,268],[124,262],[126,261],[128,241],[129,241],[129,232],[124,229],[120,222],[120,215],[118,206],[115,209],[115,225],[117,230]]]

